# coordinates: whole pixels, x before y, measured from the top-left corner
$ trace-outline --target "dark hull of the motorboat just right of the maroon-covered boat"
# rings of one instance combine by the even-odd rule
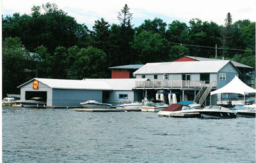
[[[236,118],[236,114],[223,111],[199,111],[202,118]]]

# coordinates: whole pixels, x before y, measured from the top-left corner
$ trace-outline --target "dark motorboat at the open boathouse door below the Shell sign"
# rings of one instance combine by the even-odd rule
[[[42,97],[33,97],[26,101],[20,101],[22,107],[45,107],[46,101]]]

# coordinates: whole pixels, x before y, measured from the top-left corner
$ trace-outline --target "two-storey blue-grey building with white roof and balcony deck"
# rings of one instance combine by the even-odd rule
[[[134,75],[136,79],[149,81],[136,81],[134,89],[143,89],[147,98],[154,98],[156,93],[176,93],[178,101],[194,100],[205,104],[209,103],[210,91],[225,86],[239,74],[241,72],[228,60],[147,63]],[[212,104],[217,98],[221,96],[212,97]]]

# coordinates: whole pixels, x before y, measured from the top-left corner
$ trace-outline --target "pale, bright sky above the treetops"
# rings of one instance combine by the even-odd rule
[[[125,4],[133,14],[131,22],[134,27],[140,26],[144,20],[156,17],[167,24],[171,24],[173,20],[188,24],[189,20],[197,18],[224,25],[228,12],[231,13],[233,22],[244,19],[256,21],[255,0],[2,0],[2,15],[12,16],[16,12],[21,15],[31,14],[33,5],[41,6],[47,2],[57,4],[59,9],[89,29],[100,18],[104,18],[109,24],[119,24],[118,12]]]

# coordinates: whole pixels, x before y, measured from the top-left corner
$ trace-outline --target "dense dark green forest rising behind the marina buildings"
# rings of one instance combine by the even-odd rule
[[[29,15],[2,15],[3,97],[34,77],[52,79],[110,78],[110,66],[168,62],[182,56],[238,61],[255,67],[255,22],[225,25],[191,19],[146,19],[132,24],[127,4],[116,13],[119,24],[95,20],[92,30],[54,3],[33,6]]]

